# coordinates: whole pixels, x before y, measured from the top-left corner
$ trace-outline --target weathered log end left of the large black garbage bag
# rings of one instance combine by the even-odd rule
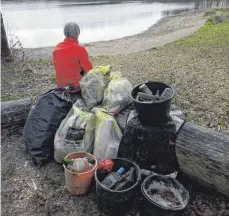
[[[2,127],[24,123],[32,107],[30,98],[1,103]]]

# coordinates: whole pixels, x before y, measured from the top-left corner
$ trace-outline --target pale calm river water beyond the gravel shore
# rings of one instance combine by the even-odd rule
[[[2,1],[11,45],[17,37],[25,48],[54,46],[64,39],[66,22],[77,22],[80,42],[121,38],[147,30],[161,18],[184,11],[221,7],[229,0],[33,0]]]

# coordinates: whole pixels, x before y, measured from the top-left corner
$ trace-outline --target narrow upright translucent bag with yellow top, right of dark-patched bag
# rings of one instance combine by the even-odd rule
[[[115,158],[118,154],[122,132],[113,116],[104,109],[96,109],[94,156],[98,161]]]

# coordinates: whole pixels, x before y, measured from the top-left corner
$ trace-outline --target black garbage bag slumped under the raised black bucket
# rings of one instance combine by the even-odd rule
[[[126,115],[123,118],[126,119]],[[173,107],[170,118],[163,125],[144,126],[137,113],[131,110],[119,145],[118,156],[134,160],[141,168],[150,169],[151,165],[162,164],[159,170],[161,172],[176,169],[178,164],[171,142],[175,142],[184,118],[183,113]]]

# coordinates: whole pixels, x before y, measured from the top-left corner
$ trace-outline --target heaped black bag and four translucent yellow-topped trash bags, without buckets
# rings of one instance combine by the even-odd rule
[[[30,111],[23,138],[36,165],[53,155],[62,163],[73,152],[93,152],[98,161],[117,156],[122,132],[114,116],[132,102],[131,83],[108,65],[89,71],[80,87],[51,90]]]

